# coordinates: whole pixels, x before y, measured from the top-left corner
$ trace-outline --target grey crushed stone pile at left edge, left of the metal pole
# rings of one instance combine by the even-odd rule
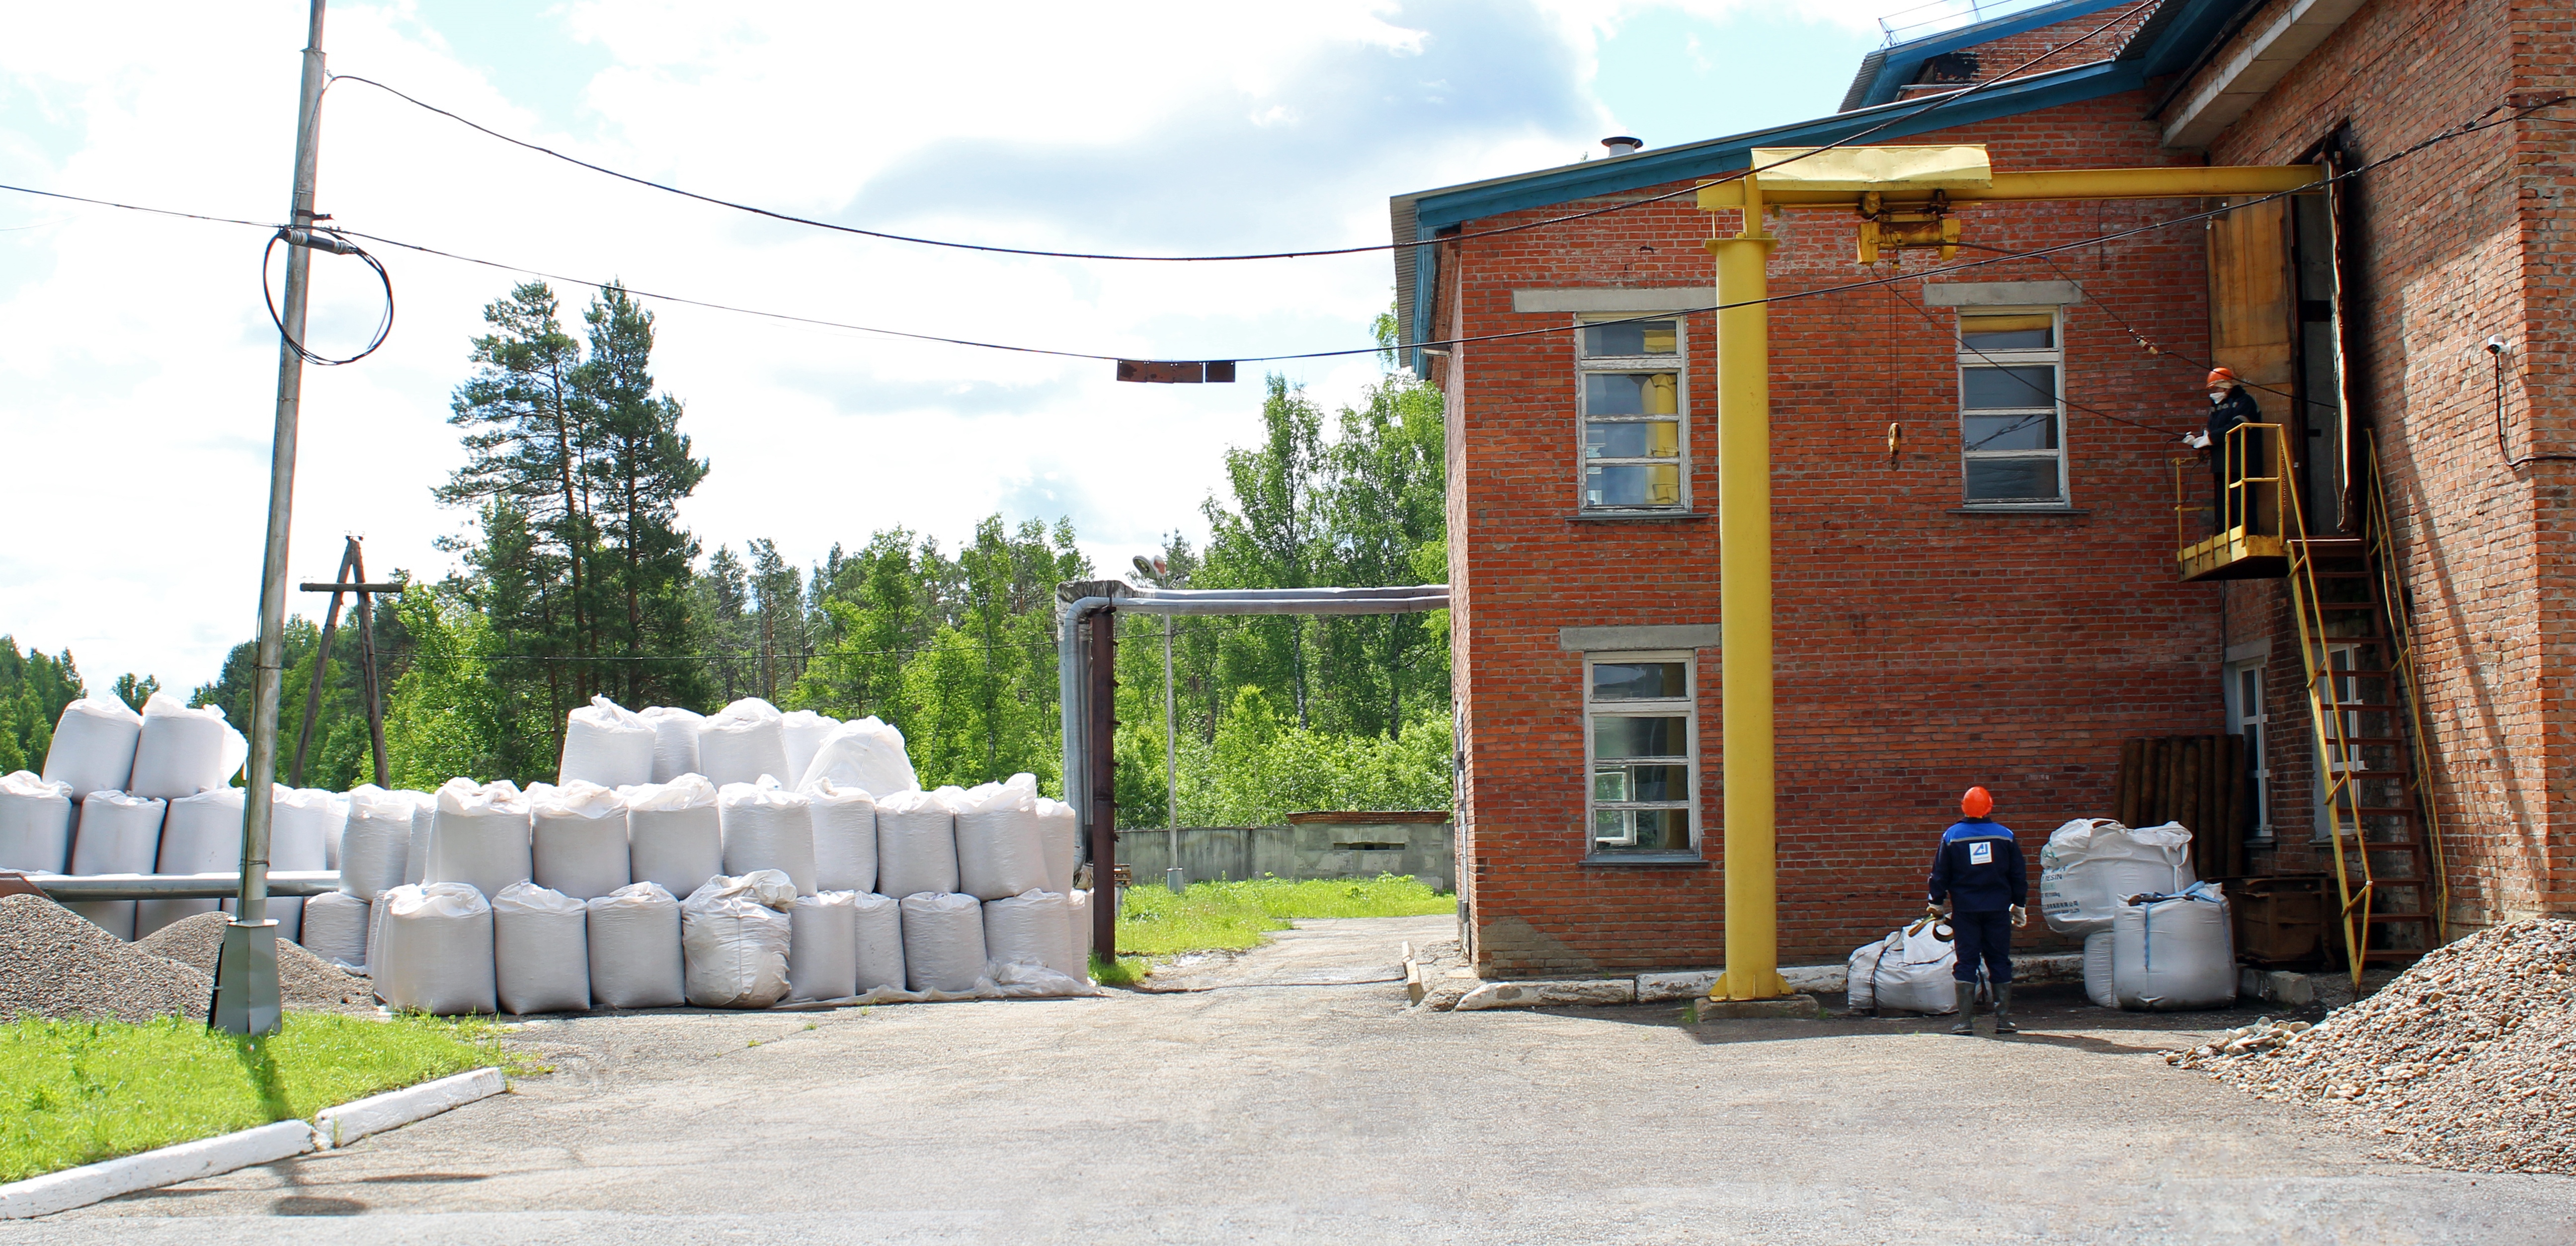
[[[21,1014],[206,1019],[214,978],[134,947],[44,896],[0,896],[0,1022]]]

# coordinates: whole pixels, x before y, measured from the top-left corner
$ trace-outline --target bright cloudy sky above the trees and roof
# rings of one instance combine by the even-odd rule
[[[1386,196],[1829,113],[1904,0],[1283,5],[335,3],[332,72],[724,198],[1056,250],[1386,242]],[[100,39],[113,33],[111,39]],[[21,5],[0,41],[0,183],[276,221],[304,5]],[[1759,46],[1759,57],[1747,49]],[[1741,64],[1731,64],[1734,54]],[[850,324],[1146,358],[1368,345],[1383,252],[1236,265],[979,257],[752,219],[559,165],[343,82],[319,206],[340,224],[641,291]],[[188,690],[255,631],[276,330],[258,229],[0,191],[0,633]],[[459,512],[448,391],[513,273],[374,247],[392,342],[309,368],[294,579],[343,533],[438,577]],[[567,319],[585,291],[564,288]],[[312,345],[379,314],[319,257]],[[1069,515],[1103,566],[1200,533],[1260,386],[1133,386],[1108,363],[935,348],[654,304],[662,386],[714,474],[714,543],[799,561],[907,525]],[[1283,368],[1327,402],[1370,358]],[[314,610],[312,600],[296,602]]]

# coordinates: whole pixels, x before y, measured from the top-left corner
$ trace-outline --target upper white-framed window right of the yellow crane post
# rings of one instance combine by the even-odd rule
[[[2066,350],[2056,306],[1958,314],[1958,474],[1971,507],[2066,505]]]

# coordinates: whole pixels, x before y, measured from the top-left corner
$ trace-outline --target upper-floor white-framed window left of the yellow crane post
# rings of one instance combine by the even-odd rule
[[[1605,317],[1574,335],[1582,510],[1690,507],[1690,353],[1682,317]]]

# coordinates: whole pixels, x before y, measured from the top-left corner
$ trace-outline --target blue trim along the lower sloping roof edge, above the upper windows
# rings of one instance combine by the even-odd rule
[[[1713,178],[1718,172],[1736,172],[1752,167],[1754,147],[1824,147],[1829,142],[1850,139],[1870,126],[1886,124],[1888,116],[1899,121],[1873,139],[1893,142],[1911,134],[1929,134],[1950,126],[1968,126],[1976,121],[1994,121],[1999,116],[2030,113],[2038,108],[2056,108],[2061,103],[2094,100],[2102,95],[2117,95],[2123,90],[2138,90],[2146,85],[2146,72],[2138,62],[2097,62],[2079,64],[2074,70],[2061,70],[2053,75],[2020,77],[2014,82],[1981,90],[1958,103],[1945,103],[1940,108],[1927,108],[1932,100],[1906,100],[1899,106],[1862,108],[1855,113],[1834,113],[1816,121],[1795,121],[1788,126],[1757,129],[1752,134],[1734,134],[1726,139],[1705,139],[1682,147],[1649,149],[1638,154],[1592,160],[1584,165],[1564,165],[1543,172],[1530,172],[1520,178],[1494,178],[1486,183],[1468,183],[1453,191],[1430,191],[1414,201],[1414,237],[1430,239],[1440,229],[1453,224],[1466,224],[1484,216],[1502,216],[1507,211],[1543,209],[1548,203],[1566,203],[1574,198],[1615,196],[1620,191],[1636,191],[1643,185],[1664,185],[1690,178]],[[1914,108],[1909,116],[1906,108]],[[1435,309],[1432,293],[1440,288],[1440,250],[1419,247],[1414,250],[1414,342],[1435,342]],[[1425,371],[1422,350],[1414,350],[1414,376],[1430,376]]]

